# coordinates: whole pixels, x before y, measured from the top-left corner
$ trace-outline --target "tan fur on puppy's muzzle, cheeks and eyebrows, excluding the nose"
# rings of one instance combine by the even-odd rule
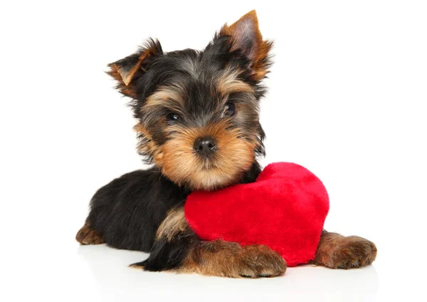
[[[226,71],[223,76],[214,79],[213,84],[221,95],[233,92],[253,93],[250,85],[238,80],[238,71]],[[182,88],[179,87],[159,88],[147,98],[142,107],[142,113],[150,107],[159,105],[167,106],[172,111],[180,113],[184,102],[182,95]],[[251,95],[248,95],[248,98],[251,98]],[[236,106],[238,113],[244,115],[245,106],[244,103],[238,103]],[[249,141],[242,140],[238,130],[226,130],[228,127],[226,120],[199,128],[168,126],[166,120],[160,120],[159,127],[164,127],[164,132],[172,132],[169,140],[162,146],[153,142],[144,125],[141,123],[135,125],[134,129],[142,135],[139,141],[139,152],[152,155],[154,162],[162,168],[164,175],[176,184],[186,184],[192,189],[216,189],[233,184],[244,171],[251,167],[255,160],[254,150],[259,147],[259,141],[255,135],[248,137]],[[218,143],[218,150],[211,161],[201,159],[194,152],[194,141],[204,135],[215,137]],[[235,162],[239,162],[239,165],[235,165]]]

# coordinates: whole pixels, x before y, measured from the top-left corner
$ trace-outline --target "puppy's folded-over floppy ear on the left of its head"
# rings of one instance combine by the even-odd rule
[[[117,90],[130,98],[137,98],[136,80],[144,74],[153,58],[162,53],[159,41],[150,38],[136,53],[108,64],[110,71],[107,73],[117,80]]]

